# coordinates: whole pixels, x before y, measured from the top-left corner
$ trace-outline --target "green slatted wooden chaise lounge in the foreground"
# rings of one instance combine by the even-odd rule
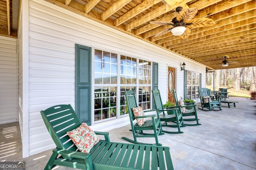
[[[81,125],[70,105],[58,105],[41,111],[44,123],[57,148],[44,170],[56,165],[84,170],[173,170],[169,147],[110,142],[109,133],[92,147],[80,152],[67,135]]]

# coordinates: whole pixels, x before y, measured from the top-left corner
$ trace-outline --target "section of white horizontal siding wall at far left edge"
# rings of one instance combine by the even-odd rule
[[[17,41],[0,36],[0,124],[18,121]]]

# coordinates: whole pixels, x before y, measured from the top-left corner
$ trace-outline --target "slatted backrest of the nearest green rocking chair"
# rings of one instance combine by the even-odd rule
[[[124,92],[125,98],[126,98],[126,104],[128,107],[128,113],[129,113],[129,117],[130,117],[130,121],[132,123],[132,121],[134,120],[133,117],[133,112],[132,112],[132,108],[134,107],[138,107],[138,104],[136,102],[136,96],[135,96],[135,92],[134,90],[128,90]]]

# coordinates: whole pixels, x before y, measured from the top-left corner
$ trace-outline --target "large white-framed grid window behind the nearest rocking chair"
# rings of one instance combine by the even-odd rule
[[[143,109],[151,107],[149,61],[95,49],[94,84],[94,121],[126,115],[128,109],[124,92],[127,90],[138,93],[138,103]],[[120,94],[116,95],[117,92]]]

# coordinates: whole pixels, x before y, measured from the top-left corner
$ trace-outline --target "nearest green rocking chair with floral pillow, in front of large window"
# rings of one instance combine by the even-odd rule
[[[122,137],[122,139],[130,142],[130,143],[138,143],[138,144],[146,144],[147,143],[140,143],[137,141],[137,138],[140,137],[154,137],[156,140],[156,145],[162,145],[161,143],[158,142],[158,135],[164,135],[164,133],[162,133],[162,127],[161,127],[161,121],[160,121],[160,117],[158,114],[158,109],[155,110],[147,110],[147,111],[143,111],[141,109],[141,107],[138,106],[138,103],[136,102],[136,96],[135,96],[135,92],[134,90],[128,90],[124,92],[125,94],[125,98],[126,98],[126,104],[128,107],[128,114],[130,117],[130,124],[132,129],[130,131],[132,131],[134,140],[129,139],[127,137]],[[133,113],[133,109],[140,109],[138,115],[134,115]],[[144,115],[144,112],[152,112],[154,111],[156,114],[154,115]],[[147,119],[150,118],[150,119]],[[134,124],[134,120],[136,119],[137,123]],[[145,133],[144,131],[147,130],[152,130],[153,133]]]

